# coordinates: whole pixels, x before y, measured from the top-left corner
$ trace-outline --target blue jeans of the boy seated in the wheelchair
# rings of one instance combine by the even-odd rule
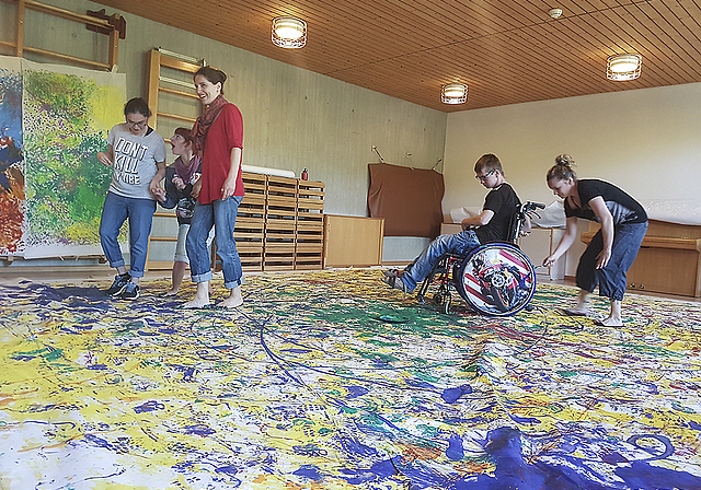
[[[416,259],[406,266],[402,282],[407,291],[414,291],[416,285],[426,279],[438,265],[443,254],[467,254],[480,246],[480,240],[472,230],[467,230],[453,235],[440,235],[421,253]]]

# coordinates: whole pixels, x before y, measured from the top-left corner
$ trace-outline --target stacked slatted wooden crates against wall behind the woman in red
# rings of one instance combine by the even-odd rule
[[[250,172],[242,176],[245,196],[233,236],[243,270],[321,269],[324,184]]]

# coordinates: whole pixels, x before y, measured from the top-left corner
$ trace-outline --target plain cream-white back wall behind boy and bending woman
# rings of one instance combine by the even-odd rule
[[[474,162],[495,153],[521,200],[556,198],[545,173],[560,153],[579,177],[602,178],[639,200],[690,199],[701,185],[701,83],[517,104],[448,115],[444,213],[482,206]],[[579,231],[587,222],[581,220]],[[584,246],[567,254],[574,276]],[[531,257],[540,264],[543,257]]]

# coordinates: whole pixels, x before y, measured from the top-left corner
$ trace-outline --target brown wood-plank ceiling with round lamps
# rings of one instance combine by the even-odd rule
[[[701,0],[99,1],[443,112],[701,81]],[[279,15],[307,22],[304,48],[271,43]],[[642,56],[640,79],[606,79],[622,52]],[[450,82],[466,104],[440,102]]]

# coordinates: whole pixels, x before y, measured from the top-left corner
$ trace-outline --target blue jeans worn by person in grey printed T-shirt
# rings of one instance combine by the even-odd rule
[[[129,275],[142,278],[146,269],[146,256],[149,249],[149,235],[156,212],[156,201],[136,199],[107,192],[100,219],[100,243],[110,266],[124,266],[119,247],[119,229],[129,220]]]

